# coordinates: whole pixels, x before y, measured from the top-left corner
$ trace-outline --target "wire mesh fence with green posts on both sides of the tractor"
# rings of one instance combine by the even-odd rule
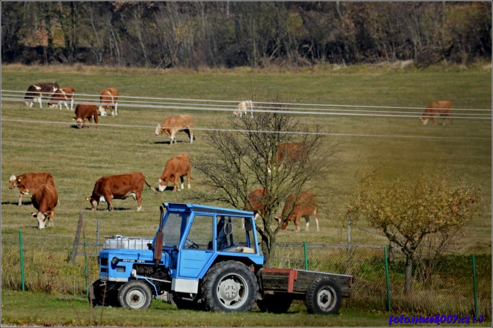
[[[103,245],[89,238],[2,232],[1,288],[87,294],[99,278]],[[353,275],[343,308],[492,317],[491,254],[476,255],[474,268],[470,255],[443,256],[432,279],[413,279],[412,294],[405,295],[405,258],[394,253],[386,266],[385,253],[380,245],[278,243],[274,266]]]

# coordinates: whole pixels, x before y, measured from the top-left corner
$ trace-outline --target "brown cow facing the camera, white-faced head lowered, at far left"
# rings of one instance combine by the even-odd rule
[[[55,206],[58,203],[58,193],[52,185],[39,185],[31,193],[31,202],[37,212],[31,213],[37,220],[37,228],[43,229],[48,220],[49,226],[53,225],[53,216],[55,215]]]

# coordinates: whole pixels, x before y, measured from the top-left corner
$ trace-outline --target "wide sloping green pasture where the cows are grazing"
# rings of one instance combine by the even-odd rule
[[[116,87],[120,96],[235,101],[253,97],[262,101],[279,95],[285,102],[315,104],[364,105],[365,110],[397,111],[406,109],[413,117],[374,117],[349,115],[295,114],[307,125],[320,124],[327,142],[340,142],[339,165],[325,181],[317,181],[320,231],[295,233],[294,226],[278,234],[278,241],[345,243],[347,231],[337,209],[342,196],[355,188],[354,173],[370,163],[385,164],[389,178],[418,176],[424,165],[448,168],[452,183],[461,178],[483,187],[485,216],[477,217],[467,227],[464,238],[457,241],[457,251],[491,252],[492,195],[492,79],[491,66],[474,69],[400,69],[360,67],[356,69],[313,69],[290,72],[173,71],[110,69],[84,66],[27,67],[2,66],[1,89],[25,92],[30,84],[57,81],[61,87],[72,86],[76,94],[98,95],[107,87]],[[3,98],[3,97],[2,97]],[[452,126],[423,126],[418,116],[431,100],[450,99],[457,109],[487,109],[490,119],[459,119]],[[122,100],[123,101],[123,100]],[[145,101],[145,100],[144,100]],[[148,101],[148,100],[147,100]],[[1,230],[39,232],[61,236],[75,234],[79,213],[85,211],[85,234],[94,238],[96,223],[101,219],[101,235],[150,236],[156,229],[162,202],[189,202],[190,190],[166,191],[154,195],[143,191],[142,211],[136,201],[114,200],[117,209],[107,212],[106,204],[90,211],[85,197],[94,183],[105,175],[139,171],[152,186],[157,186],[168,159],[187,153],[197,160],[209,156],[212,145],[204,141],[205,130],[216,124],[227,128],[231,112],[141,108],[123,106],[117,117],[100,117],[98,129],[74,128],[73,112],[66,109],[23,107],[21,101],[1,101]],[[293,105],[296,107],[297,105]],[[417,108],[417,109],[414,109]],[[348,109],[348,108],[346,108]],[[349,109],[352,109],[349,107]],[[361,109],[361,108],[359,108]],[[458,110],[457,110],[458,111]],[[185,133],[177,134],[178,143],[169,145],[166,135],[155,136],[158,123],[172,114],[188,113],[195,121],[196,140],[189,144]],[[484,113],[484,112],[483,112]],[[10,175],[49,171],[53,174],[60,203],[54,218],[55,228],[37,231],[29,196],[17,206],[17,190],[9,190]],[[192,168],[192,190],[205,190],[198,170]],[[219,204],[218,204],[219,205]],[[313,225],[312,225],[313,226]],[[303,224],[302,224],[303,227]],[[375,234],[353,227],[356,244],[386,244]]]

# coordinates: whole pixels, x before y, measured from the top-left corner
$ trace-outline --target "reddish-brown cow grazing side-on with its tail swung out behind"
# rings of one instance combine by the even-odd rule
[[[86,197],[86,200],[92,205],[92,210],[95,211],[98,208],[100,202],[108,202],[108,211],[112,211],[113,198],[114,199],[127,199],[132,196],[137,200],[137,210],[142,208],[142,190],[144,189],[144,183],[154,192],[156,191],[145,181],[145,177],[140,172],[110,175],[100,178],[94,184],[94,190],[90,197]]]

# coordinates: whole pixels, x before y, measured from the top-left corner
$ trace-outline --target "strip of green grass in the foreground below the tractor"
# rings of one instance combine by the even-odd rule
[[[254,310],[249,313],[212,313],[177,310],[176,306],[155,300],[148,310],[129,310],[120,307],[96,307],[91,312],[83,296],[53,297],[30,292],[1,292],[1,321],[16,326],[44,327],[389,327],[390,315],[400,317],[399,311],[342,310],[337,315],[310,315],[299,303],[293,303],[287,313],[270,314]],[[35,311],[32,309],[35,308]],[[414,313],[404,313],[413,317]],[[417,313],[417,315],[421,315]],[[459,320],[462,316],[459,317]],[[453,324],[454,327],[472,325]],[[441,326],[447,327],[447,324]],[[390,327],[409,324],[394,324]],[[440,326],[440,327],[441,327]],[[484,318],[474,327],[491,327]],[[419,324],[419,327],[437,327]],[[450,326],[449,326],[450,327]]]

